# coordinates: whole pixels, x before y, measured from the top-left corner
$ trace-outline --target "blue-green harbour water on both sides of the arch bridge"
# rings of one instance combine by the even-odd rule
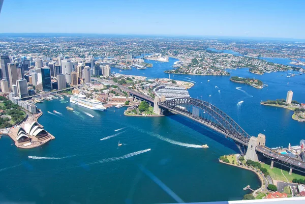
[[[119,73],[168,77],[163,72],[176,61],[146,61],[154,67]],[[292,120],[292,111],[260,105],[261,100],[286,98],[288,90],[294,92],[294,100],[305,102],[304,75],[287,78],[284,72],[255,75],[247,69],[229,71],[232,76],[260,79],[268,87],[258,90],[231,82],[228,76],[171,74],[170,78],[196,82],[189,90],[191,97],[215,104],[250,135],[264,133],[268,147],[296,145],[305,138],[305,123]],[[242,199],[250,193],[243,187],[259,187],[253,172],[218,162],[221,155],[237,153],[232,141],[182,116],[128,117],[124,108],[99,112],[59,100],[37,105],[44,112],[39,123],[56,139],[42,148],[20,150],[11,146],[9,137],[2,137],[0,201],[216,201]],[[53,110],[63,115],[53,114]],[[118,141],[123,145],[118,147]],[[208,144],[209,149],[199,148],[201,144]]]

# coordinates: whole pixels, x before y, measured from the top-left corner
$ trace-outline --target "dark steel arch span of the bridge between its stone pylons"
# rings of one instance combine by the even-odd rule
[[[206,101],[186,97],[160,102],[159,106],[187,116],[230,137],[237,143],[248,145],[250,135],[231,119],[229,115]]]

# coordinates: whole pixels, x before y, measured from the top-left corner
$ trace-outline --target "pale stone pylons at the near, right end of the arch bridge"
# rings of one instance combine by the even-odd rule
[[[266,137],[264,134],[259,134],[257,137],[252,136],[248,143],[248,149],[246,152],[246,159],[250,159],[252,161],[258,161],[258,156],[256,153],[256,148],[258,146],[264,146],[266,143]]]

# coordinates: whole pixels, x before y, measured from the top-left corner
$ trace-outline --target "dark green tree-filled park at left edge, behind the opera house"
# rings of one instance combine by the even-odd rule
[[[22,107],[0,96],[0,128],[10,128],[26,117]]]

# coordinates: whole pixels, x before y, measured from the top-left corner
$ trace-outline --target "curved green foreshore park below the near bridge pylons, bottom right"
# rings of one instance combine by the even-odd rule
[[[261,181],[261,187],[255,190],[253,193],[244,195],[244,200],[263,199],[268,194],[276,191],[279,191],[280,193],[286,193],[287,197],[292,197],[293,195],[291,189],[288,186],[289,183],[305,184],[305,176],[295,172],[289,174],[289,171],[285,169],[277,168],[275,166],[270,168],[270,165],[268,164],[252,161],[249,159],[246,160],[246,158],[240,154],[224,155],[219,158],[219,161],[239,168],[251,170],[255,172],[259,177]],[[278,182],[286,182],[288,185],[285,186],[283,190],[279,190],[276,185],[267,183],[268,177],[271,178],[274,184],[277,184]]]

